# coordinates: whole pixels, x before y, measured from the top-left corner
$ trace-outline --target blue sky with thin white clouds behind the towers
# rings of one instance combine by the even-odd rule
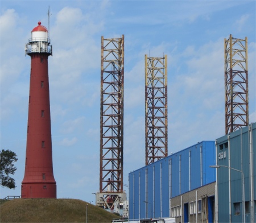
[[[1,149],[24,176],[30,57],[38,21],[47,27],[53,173],[58,198],[95,203],[100,164],[101,36],[125,35],[124,179],[145,163],[144,55],[168,56],[168,153],[225,134],[224,38],[248,38],[249,114],[255,108],[255,1],[0,1]],[[128,188],[125,188],[128,192]]]

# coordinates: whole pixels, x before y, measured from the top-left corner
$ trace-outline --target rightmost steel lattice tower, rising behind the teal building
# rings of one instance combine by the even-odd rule
[[[247,37],[225,44],[225,134],[249,124]]]

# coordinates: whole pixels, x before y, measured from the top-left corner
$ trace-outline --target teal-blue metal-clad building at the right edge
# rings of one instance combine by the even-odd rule
[[[216,144],[217,221],[255,222],[256,123],[216,139]]]

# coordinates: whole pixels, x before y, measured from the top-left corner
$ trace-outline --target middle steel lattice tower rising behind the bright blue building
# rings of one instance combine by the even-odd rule
[[[146,165],[168,155],[167,55],[145,55]]]

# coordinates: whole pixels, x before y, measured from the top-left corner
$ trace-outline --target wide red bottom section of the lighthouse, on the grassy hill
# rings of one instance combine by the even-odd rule
[[[56,184],[22,184],[22,198],[57,198]]]

